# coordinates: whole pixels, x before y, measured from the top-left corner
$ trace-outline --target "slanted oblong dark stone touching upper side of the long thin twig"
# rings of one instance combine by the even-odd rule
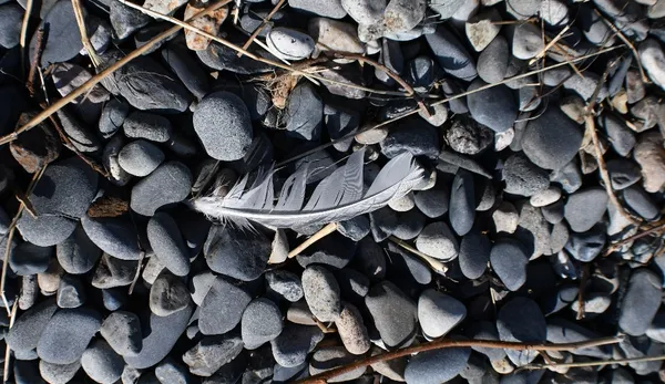
[[[473,58],[447,27],[439,25],[424,39],[446,73],[463,81],[471,81],[478,75]]]

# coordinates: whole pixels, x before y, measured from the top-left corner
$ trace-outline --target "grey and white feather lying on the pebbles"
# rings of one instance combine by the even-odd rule
[[[319,181],[307,204],[305,190],[310,167],[304,164],[285,180],[276,203],[270,167],[259,170],[250,187],[247,187],[249,176],[245,175],[225,197],[215,194],[200,197],[194,199],[193,206],[213,218],[255,221],[274,228],[323,225],[385,207],[424,178],[413,156],[405,153],[388,162],[364,193],[364,158],[365,151],[355,152],[345,166]]]

